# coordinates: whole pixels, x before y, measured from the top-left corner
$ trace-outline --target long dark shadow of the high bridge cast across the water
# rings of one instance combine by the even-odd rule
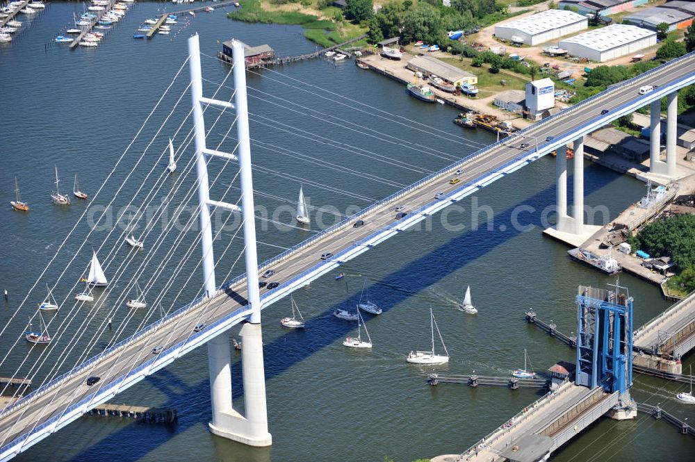
[[[603,188],[621,175],[610,172],[603,167],[597,165],[587,165],[585,167],[584,176],[584,194],[589,195],[592,192]],[[568,179],[568,196],[571,201],[572,194],[572,179]],[[531,206],[535,208],[537,213],[523,213],[523,219],[520,221],[523,224],[531,224],[534,226],[530,232],[539,233],[542,229],[540,211],[548,206],[555,204],[555,185],[550,186],[538,192],[536,195],[529,197],[523,202],[516,204],[512,208],[502,213],[495,215],[495,223],[498,229],[489,231],[487,226],[480,226],[477,231],[466,230],[458,233],[457,236],[445,242],[445,244],[430,251],[427,255],[418,258],[411,263],[407,263],[404,267],[395,270],[379,281],[379,291],[384,294],[382,299],[386,302],[380,304],[384,312],[389,311],[408,299],[415,293],[423,290],[432,284],[440,281],[443,277],[459,270],[459,268],[468,265],[492,251],[496,247],[515,238],[523,231],[515,229],[511,224],[512,213],[518,206]],[[505,225],[505,231],[499,230],[499,224]],[[451,258],[451,249],[459,250],[457,258]],[[423,267],[432,267],[436,265],[437,272],[421,271]],[[407,287],[408,290],[402,290]],[[355,294],[350,295],[354,297]],[[332,345],[339,338],[343,338],[347,333],[354,331],[354,324],[351,322],[339,322],[333,317],[332,313],[335,308],[343,306],[344,299],[338,304],[327,308],[327,310],[318,317],[306,321],[306,331],[288,331],[282,336],[279,336],[272,342],[264,345],[264,362],[265,362],[265,377],[272,379],[281,374],[293,365],[304,361],[315,352],[322,348]],[[301,337],[301,342],[291,341],[292,338]],[[234,353],[233,353],[234,359]],[[207,368],[207,363],[201,367]],[[236,362],[232,368],[234,398],[243,395],[241,383],[241,365]],[[170,370],[161,370],[151,377],[145,379],[147,383],[158,389],[167,397],[167,402],[159,407],[170,407],[179,409],[179,424],[175,427],[167,429],[161,426],[161,430],[156,430],[154,427],[158,425],[147,424],[147,435],[143,438],[142,428],[140,424],[129,424],[124,428],[119,429],[105,438],[99,438],[95,432],[93,435],[94,441],[89,447],[83,449],[79,454],[72,457],[72,461],[94,461],[99,459],[102,461],[120,461],[120,462],[135,462],[145,457],[149,452],[156,449],[160,445],[165,445],[176,434],[183,433],[196,425],[206,426],[210,419],[210,385],[207,379],[193,385],[186,384],[176,374]],[[202,405],[195,406],[192,403],[200,403]],[[140,403],[131,403],[140,404]],[[185,412],[181,412],[181,409]],[[97,418],[97,417],[92,417]],[[272,432],[272,429],[271,429]],[[83,435],[85,436],[85,435]],[[51,438],[56,438],[52,436]],[[215,439],[214,436],[211,438]],[[131,445],[129,441],[140,441],[142,444]],[[124,444],[126,442],[126,444]],[[48,441],[47,441],[48,443]],[[88,443],[88,442],[85,442]],[[43,443],[46,444],[46,443]],[[49,443],[51,444],[51,443]],[[234,445],[235,443],[231,443]],[[229,451],[230,445],[213,444],[215,454],[218,454],[219,460],[224,460],[223,454]],[[33,449],[29,449],[26,453],[31,454]],[[270,461],[270,449],[253,449],[246,452],[254,462]],[[20,456],[21,457],[21,456]],[[172,455],[176,459],[175,455]],[[28,459],[28,458],[27,458]]]

